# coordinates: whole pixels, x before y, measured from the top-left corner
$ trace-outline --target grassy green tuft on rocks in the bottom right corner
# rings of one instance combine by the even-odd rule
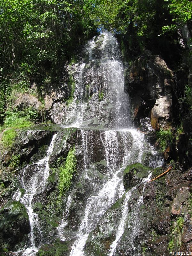
[[[176,222],[172,224],[172,232],[171,232],[171,239],[168,244],[168,250],[173,251],[177,250],[179,251],[182,245],[181,236],[183,233],[183,225],[184,225],[184,218],[183,217],[177,217]]]

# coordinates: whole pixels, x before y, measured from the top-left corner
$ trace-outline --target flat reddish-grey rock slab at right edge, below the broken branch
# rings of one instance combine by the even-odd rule
[[[188,197],[190,195],[189,188],[188,187],[183,187],[180,188],[177,192],[176,197],[174,198],[172,205],[171,205],[171,213],[174,215],[180,215],[183,204],[186,203]]]

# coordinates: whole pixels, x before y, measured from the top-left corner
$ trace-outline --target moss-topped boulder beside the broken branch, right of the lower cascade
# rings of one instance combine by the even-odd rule
[[[123,184],[125,190],[134,187],[145,178],[152,169],[140,163],[127,165],[123,172]]]

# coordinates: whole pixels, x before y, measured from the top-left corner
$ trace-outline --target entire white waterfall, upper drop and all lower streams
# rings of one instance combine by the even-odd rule
[[[76,195],[76,184],[73,185],[71,193],[66,195],[62,220],[57,227],[58,238],[74,241],[71,256],[86,255],[84,250],[89,234],[97,227],[105,212],[125,193],[125,167],[135,162],[145,164],[147,161],[152,167],[159,163],[158,157],[155,157],[156,152],[145,141],[144,134],[133,129],[130,100],[124,91],[124,66],[120,60],[115,37],[110,32],[94,37],[85,47],[85,53],[87,57],[84,62],[67,68],[68,73],[74,77],[74,93],[70,102],[66,103],[61,120],[64,130],[68,127],[79,128],[75,148],[78,149],[83,164],[79,168],[81,170],[77,174],[77,180],[79,183],[83,180],[85,184],[82,198]],[[35,255],[36,248],[41,245],[42,231],[38,215],[32,210],[32,200],[35,194],[46,188],[49,156],[53,152],[56,136],[53,136],[46,157],[37,163],[28,164],[23,170],[21,184],[26,192],[16,200],[20,200],[26,206],[31,225],[31,249],[23,252],[23,256]],[[154,157],[147,158],[147,154]],[[34,174],[26,179],[31,167]],[[150,175],[140,182],[143,185],[143,192],[149,177]],[[129,239],[132,255],[136,251],[134,232],[138,228],[138,211],[143,195],[131,212],[127,207],[135,190],[136,187],[125,193],[122,217],[108,256],[115,255],[127,219],[132,229],[132,237]],[[76,205],[79,208],[75,212]],[[74,215],[77,221],[73,223]]]

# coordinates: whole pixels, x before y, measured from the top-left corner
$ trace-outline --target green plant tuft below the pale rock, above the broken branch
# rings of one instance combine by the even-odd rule
[[[171,132],[171,129],[168,129],[168,130],[160,129],[159,131],[156,132],[156,135],[162,151],[166,149],[168,144],[172,144],[173,134]]]

